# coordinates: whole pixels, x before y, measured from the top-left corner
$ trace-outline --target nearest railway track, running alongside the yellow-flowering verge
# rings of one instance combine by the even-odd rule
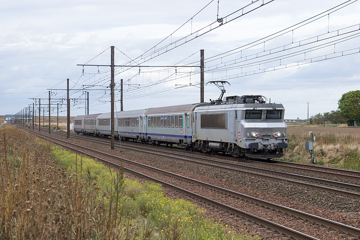
[[[159,168],[154,168],[154,167],[151,167],[151,166],[147,166],[145,164],[141,164],[141,163],[138,163],[138,162],[134,162],[134,161],[125,159],[125,158],[121,158],[121,157],[117,157],[117,156],[114,156],[114,155],[111,155],[111,154],[108,154],[108,153],[104,153],[104,152],[101,152],[101,151],[98,151],[98,150],[94,150],[94,149],[91,149],[91,148],[87,148],[87,147],[84,147],[84,146],[73,144],[71,142],[56,139],[56,138],[50,137],[48,135],[43,135],[43,134],[37,133],[37,132],[32,132],[32,133],[34,135],[38,136],[38,137],[41,137],[42,139],[45,139],[45,140],[54,142],[54,143],[56,143],[56,144],[58,144],[60,146],[63,146],[64,148],[68,148],[68,149],[70,149],[72,151],[77,151],[78,153],[88,155],[91,158],[96,158],[96,159],[98,159],[98,160],[100,160],[100,161],[102,161],[102,162],[104,162],[106,164],[111,165],[114,168],[119,168],[120,165],[118,165],[116,163],[113,163],[111,161],[105,160],[103,158],[99,158],[98,156],[95,156],[93,154],[89,154],[88,152],[81,151],[78,148],[83,149],[85,151],[92,151],[92,152],[94,152],[96,154],[103,155],[103,156],[109,157],[111,159],[117,159],[117,160],[120,160],[122,162],[132,164],[134,166],[138,166],[138,167],[145,168],[145,169],[157,172],[157,173],[161,173],[163,175],[166,175],[166,176],[169,176],[169,177],[172,177],[172,178],[176,178],[176,179],[179,179],[179,180],[182,180],[182,181],[190,182],[192,184],[198,184],[200,186],[207,187],[209,189],[218,191],[218,192],[223,193],[223,194],[231,195],[231,196],[234,196],[236,198],[240,198],[240,199],[244,199],[246,201],[250,201],[252,203],[256,203],[256,204],[258,204],[258,205],[260,205],[262,207],[271,208],[271,209],[274,209],[276,211],[281,211],[281,212],[286,213],[286,214],[288,214],[290,216],[300,217],[301,219],[317,223],[318,225],[324,225],[324,226],[331,227],[331,228],[336,229],[336,230],[340,230],[340,231],[345,232],[345,233],[350,233],[351,235],[354,235],[354,236],[360,236],[360,229],[359,228],[355,228],[355,227],[348,226],[348,225],[345,225],[345,224],[342,224],[342,223],[334,222],[334,221],[331,221],[331,220],[326,219],[326,218],[321,218],[321,217],[318,217],[318,216],[315,216],[315,215],[312,215],[312,214],[309,214],[309,213],[301,212],[301,211],[296,210],[296,209],[284,207],[282,205],[274,204],[274,203],[271,203],[269,201],[265,201],[265,200],[262,200],[262,199],[258,199],[258,198],[254,198],[254,197],[251,197],[251,196],[248,196],[248,195],[237,193],[237,192],[229,190],[229,189],[225,189],[225,188],[222,188],[222,187],[211,185],[211,184],[208,184],[206,182],[201,182],[201,181],[198,181],[198,180],[195,180],[195,179],[192,179],[192,178],[180,176],[180,175],[177,175],[175,173],[164,171],[164,170],[159,169]],[[75,146],[76,149],[72,148],[72,147],[70,147],[68,145]],[[221,203],[219,201],[207,198],[205,196],[199,195],[197,193],[186,190],[184,188],[175,186],[175,185],[170,184],[168,182],[159,180],[159,179],[154,178],[154,177],[150,177],[148,175],[144,175],[143,173],[140,173],[138,171],[134,171],[134,170],[132,170],[130,168],[124,168],[124,170],[126,172],[130,172],[130,173],[132,173],[134,175],[137,175],[137,176],[139,176],[141,178],[145,178],[147,180],[154,181],[154,182],[157,182],[159,184],[162,184],[163,186],[170,187],[173,190],[179,191],[180,193],[186,194],[186,195],[188,195],[188,196],[190,196],[192,198],[196,198],[196,199],[198,199],[200,201],[203,201],[204,203],[211,204],[211,205],[213,205],[215,207],[219,207],[221,209],[224,209],[225,211],[228,211],[229,213],[237,214],[239,216],[242,216],[242,217],[244,217],[246,219],[249,219],[252,222],[255,222],[258,225],[264,225],[264,226],[270,227],[271,229],[282,232],[282,233],[286,234],[289,237],[293,237],[295,239],[301,239],[301,240],[303,240],[303,239],[313,239],[313,240],[317,239],[315,237],[309,236],[309,235],[304,234],[302,232],[299,232],[299,231],[293,230],[291,228],[282,226],[280,224],[274,223],[272,221],[269,221],[269,220],[267,220],[265,218],[258,217],[258,216],[254,215],[254,214],[244,212],[243,210],[232,207],[230,205]]]

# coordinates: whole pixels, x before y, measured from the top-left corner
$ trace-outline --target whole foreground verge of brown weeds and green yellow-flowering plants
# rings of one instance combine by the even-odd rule
[[[19,129],[0,134],[0,239],[258,239],[167,198],[158,184]]]

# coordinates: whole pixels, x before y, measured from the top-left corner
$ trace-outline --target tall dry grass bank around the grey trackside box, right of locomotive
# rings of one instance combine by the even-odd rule
[[[360,169],[360,136],[335,133],[316,133],[314,136],[316,137],[314,156],[318,164],[352,170]],[[310,141],[310,136],[289,133],[288,138],[287,154],[280,160],[309,163],[310,153],[305,150],[305,141]]]

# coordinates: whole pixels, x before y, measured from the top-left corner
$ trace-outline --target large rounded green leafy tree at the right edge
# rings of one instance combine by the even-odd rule
[[[360,124],[360,91],[350,91],[341,96],[338,101],[339,116],[346,120],[355,120]]]

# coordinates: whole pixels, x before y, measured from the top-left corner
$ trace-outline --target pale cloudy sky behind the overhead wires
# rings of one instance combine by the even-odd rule
[[[224,96],[264,95],[272,103],[282,103],[285,119],[307,118],[308,102],[310,116],[336,110],[342,94],[360,89],[360,38],[356,37],[360,29],[360,1],[351,0],[350,5],[273,39],[268,36],[346,1],[265,0],[267,4],[263,6],[261,2],[3,1],[0,114],[17,113],[32,105],[35,102],[32,98],[43,98],[42,103],[48,103],[45,100],[49,97],[48,89],[66,89],[67,78],[71,89],[82,89],[83,85],[102,89],[89,91],[90,114],[110,112],[110,91],[103,90],[110,83],[109,67],[97,67],[110,64],[110,46],[116,47],[116,65],[143,66],[198,66],[199,50],[204,49],[205,82],[228,81],[231,86],[225,85]],[[229,15],[244,6],[247,7],[243,12]],[[217,20],[217,15],[224,24],[219,26],[216,22],[208,26]],[[235,17],[238,18],[230,21]],[[212,31],[207,32],[210,28]],[[204,32],[207,33],[201,35]],[[185,36],[188,37],[175,47],[175,42]],[[342,37],[347,37],[346,41]],[[257,45],[248,45],[252,42]],[[306,50],[320,44],[327,45]],[[162,47],[165,48],[157,52]],[[232,54],[226,56],[224,53],[228,51]],[[151,59],[145,57],[144,53],[152,52]],[[293,56],[280,57],[284,52]],[[216,55],[219,57],[213,58]],[[249,65],[240,66],[240,63],[231,69],[244,61],[244,57],[244,64],[249,62]],[[83,73],[82,66],[77,64],[85,63],[96,66],[85,66]],[[225,65],[230,67],[226,71]],[[276,70],[270,71],[273,69]],[[116,68],[116,100],[120,99],[120,79],[124,79],[124,110],[197,103],[200,101],[198,72],[199,67]],[[167,89],[170,90],[164,91]],[[51,90],[51,98],[64,98],[65,93]],[[206,85],[205,101],[219,98],[220,93],[213,84]],[[71,98],[78,99],[71,101],[71,116],[85,113],[85,101],[81,100],[85,96],[85,90],[71,91]],[[66,116],[62,100],[52,103],[60,103],[59,115]],[[120,110],[120,102],[116,103],[116,110]],[[53,111],[54,116],[56,109]]]

